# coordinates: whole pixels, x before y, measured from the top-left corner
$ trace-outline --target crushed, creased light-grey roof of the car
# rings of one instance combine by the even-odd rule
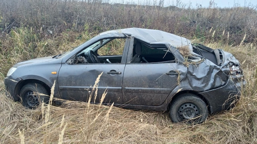
[[[188,46],[189,48],[191,48],[190,40],[171,33],[163,32],[161,30],[144,29],[144,28],[125,28],[125,29],[110,30],[107,32],[100,33],[99,35],[108,34],[108,33],[129,34],[135,37],[136,39],[139,39],[149,44],[169,43],[173,47]]]

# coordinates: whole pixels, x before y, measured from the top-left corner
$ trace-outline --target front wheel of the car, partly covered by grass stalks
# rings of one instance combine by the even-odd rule
[[[24,85],[21,88],[20,96],[22,98],[22,105],[31,109],[38,106],[42,101],[45,103],[48,103],[49,101],[48,91],[43,85],[39,83],[30,83]]]

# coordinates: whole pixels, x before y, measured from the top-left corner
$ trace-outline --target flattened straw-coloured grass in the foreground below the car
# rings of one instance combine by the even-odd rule
[[[76,101],[66,101],[61,107],[50,106],[50,111],[45,108],[49,113],[45,123],[41,108],[25,109],[3,94],[0,101],[0,143],[257,142],[256,95],[244,96],[233,110],[209,116],[204,124],[195,126],[172,124],[166,112]]]

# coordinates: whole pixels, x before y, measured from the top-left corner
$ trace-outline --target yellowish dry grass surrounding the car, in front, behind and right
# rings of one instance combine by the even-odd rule
[[[20,29],[30,31],[30,28]],[[16,62],[68,50],[94,35],[62,33],[48,39],[37,37],[33,30],[18,32],[1,40],[2,79]],[[0,143],[257,143],[256,45],[228,45],[213,40],[205,45],[235,55],[243,65],[247,85],[235,108],[209,116],[201,125],[174,124],[168,112],[127,110],[77,101],[30,110],[8,99],[0,81]],[[41,51],[35,50],[39,47]]]

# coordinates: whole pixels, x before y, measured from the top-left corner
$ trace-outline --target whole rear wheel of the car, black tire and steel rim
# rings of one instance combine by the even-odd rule
[[[200,124],[208,117],[208,107],[197,95],[181,94],[172,100],[169,115],[172,122]]]

